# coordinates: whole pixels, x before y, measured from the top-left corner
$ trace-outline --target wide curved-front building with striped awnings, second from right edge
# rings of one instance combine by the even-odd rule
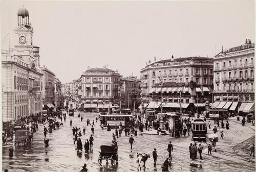
[[[154,60],[141,69],[142,95],[150,101],[212,102],[214,58],[186,57]],[[180,95],[181,94],[181,95]]]

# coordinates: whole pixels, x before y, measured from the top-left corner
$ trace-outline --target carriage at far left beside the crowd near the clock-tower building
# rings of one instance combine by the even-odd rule
[[[14,138],[14,146],[17,147],[20,144],[29,146],[32,144],[32,137],[29,134],[29,130],[17,130],[14,131],[15,138]]]

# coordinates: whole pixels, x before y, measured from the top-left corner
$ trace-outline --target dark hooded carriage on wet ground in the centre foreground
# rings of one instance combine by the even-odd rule
[[[101,152],[99,152],[99,158],[98,158],[98,162],[100,165],[103,159],[105,159],[106,162],[110,160],[111,165],[113,165],[115,161],[116,162],[118,161],[117,148],[115,144],[101,145],[100,151]]]

